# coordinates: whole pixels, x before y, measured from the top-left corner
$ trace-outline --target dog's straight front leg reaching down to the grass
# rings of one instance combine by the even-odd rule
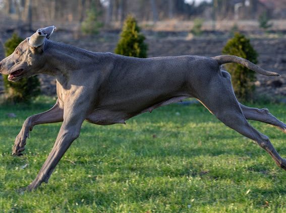
[[[84,97],[82,97],[83,99]],[[72,142],[79,136],[81,125],[86,118],[89,104],[83,100],[68,101],[64,107],[64,122],[61,126],[54,146],[48,155],[45,163],[40,169],[37,177],[28,186],[28,190],[33,190],[42,182],[48,181],[53,169],[59,163]]]

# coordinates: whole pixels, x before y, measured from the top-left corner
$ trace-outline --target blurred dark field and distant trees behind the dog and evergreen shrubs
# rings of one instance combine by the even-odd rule
[[[227,40],[242,33],[257,51],[258,65],[281,74],[257,75],[256,91],[286,95],[286,0],[0,0],[0,59],[12,33],[26,38],[49,25],[57,28],[52,40],[115,52],[129,15],[146,37],[148,57],[220,55]],[[52,77],[39,80],[43,94],[55,94]]]

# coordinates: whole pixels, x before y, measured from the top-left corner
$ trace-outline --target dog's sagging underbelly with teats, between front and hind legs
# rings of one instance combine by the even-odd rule
[[[170,98],[168,100],[152,104],[147,108],[138,109],[137,111],[128,111],[128,110],[117,110],[113,107],[104,107],[95,109],[88,117],[87,121],[98,124],[98,125],[110,125],[115,123],[124,123],[131,117],[139,115],[144,112],[151,112],[153,109],[158,108],[160,106],[168,105],[171,103],[176,103],[182,101],[186,98],[190,98],[190,96],[176,96]]]

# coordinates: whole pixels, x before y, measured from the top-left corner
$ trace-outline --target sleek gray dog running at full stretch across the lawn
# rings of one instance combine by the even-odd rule
[[[189,97],[198,99],[225,125],[255,140],[286,170],[286,160],[279,156],[269,138],[246,119],[269,123],[285,133],[286,124],[267,109],[239,103],[231,76],[221,70],[221,64],[236,62],[262,75],[278,74],[232,55],[142,59],[95,53],[48,40],[53,30],[53,26],[37,30],[0,62],[0,73],[9,75],[9,81],[37,74],[56,78],[58,100],[55,105],[46,112],[28,117],[15,140],[13,154],[19,155],[34,125],[63,122],[48,158],[28,190],[48,181],[55,166],[79,136],[84,120],[99,125],[125,123],[140,113]]]

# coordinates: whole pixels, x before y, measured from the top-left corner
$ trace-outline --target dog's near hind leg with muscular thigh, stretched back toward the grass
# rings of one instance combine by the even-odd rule
[[[220,121],[256,141],[279,167],[286,170],[286,160],[280,157],[268,136],[260,133],[247,122],[233,92],[231,81],[226,78],[216,78],[215,80],[210,82],[207,88],[202,88],[203,96],[200,100]]]

